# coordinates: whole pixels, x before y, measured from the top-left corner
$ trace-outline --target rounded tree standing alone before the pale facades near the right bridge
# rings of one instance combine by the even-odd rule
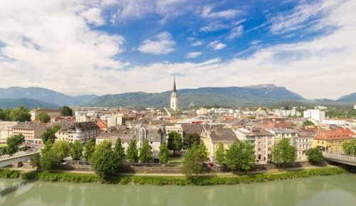
[[[295,163],[295,147],[290,145],[289,139],[282,138],[273,146],[272,160],[275,163],[283,163],[286,168],[287,163]]]

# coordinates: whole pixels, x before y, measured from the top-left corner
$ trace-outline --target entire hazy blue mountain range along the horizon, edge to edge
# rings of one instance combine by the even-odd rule
[[[177,90],[180,107],[193,103],[197,106],[258,106],[273,105],[278,102],[339,103],[356,102],[356,93],[337,100],[312,99],[276,85],[251,85],[246,87],[201,87]],[[17,107],[167,107],[171,91],[159,93],[128,92],[122,94],[95,94],[70,96],[41,87],[0,88],[0,108]],[[340,103],[341,104],[341,103]]]

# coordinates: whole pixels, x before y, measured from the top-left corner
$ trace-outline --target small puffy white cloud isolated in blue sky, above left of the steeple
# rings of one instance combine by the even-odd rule
[[[175,41],[172,39],[172,36],[168,32],[162,32],[155,36],[155,38],[146,39],[143,41],[143,44],[140,45],[137,50],[142,53],[150,53],[153,55],[165,55],[171,53],[175,50],[174,45]]]

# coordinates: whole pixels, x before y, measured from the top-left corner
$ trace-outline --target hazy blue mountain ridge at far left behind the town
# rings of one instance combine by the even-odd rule
[[[0,88],[0,99],[36,99],[58,106],[78,106],[88,104],[96,95],[80,95],[72,97],[67,94],[44,89],[41,87],[9,87]]]

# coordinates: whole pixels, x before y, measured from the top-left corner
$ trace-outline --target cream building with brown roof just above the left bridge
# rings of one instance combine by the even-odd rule
[[[41,136],[46,130],[46,124],[39,121],[24,121],[12,127],[12,135],[22,134],[25,137],[26,145],[42,147],[43,141]]]

